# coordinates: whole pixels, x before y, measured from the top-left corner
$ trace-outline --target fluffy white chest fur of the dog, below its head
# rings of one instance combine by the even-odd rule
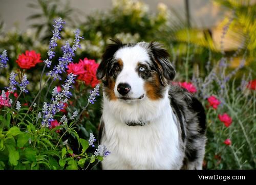
[[[179,148],[178,129],[168,95],[160,101],[144,100],[127,105],[104,98],[105,133],[101,144],[111,154],[103,169],[179,169],[184,155]],[[128,119],[149,121],[144,126],[127,126]],[[183,157],[182,157],[183,158]]]

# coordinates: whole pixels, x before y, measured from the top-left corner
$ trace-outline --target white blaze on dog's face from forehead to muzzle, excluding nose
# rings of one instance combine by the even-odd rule
[[[148,56],[147,51],[139,45],[135,45],[134,47],[119,49],[116,52],[114,58],[116,60],[121,59],[123,62],[122,71],[116,79],[114,89],[115,96],[118,98],[121,97],[117,91],[117,86],[119,83],[127,83],[131,86],[131,90],[127,94],[127,97],[131,99],[137,99],[144,95],[144,80],[139,77],[136,68],[138,62],[146,63],[145,61],[150,61],[150,57]]]

